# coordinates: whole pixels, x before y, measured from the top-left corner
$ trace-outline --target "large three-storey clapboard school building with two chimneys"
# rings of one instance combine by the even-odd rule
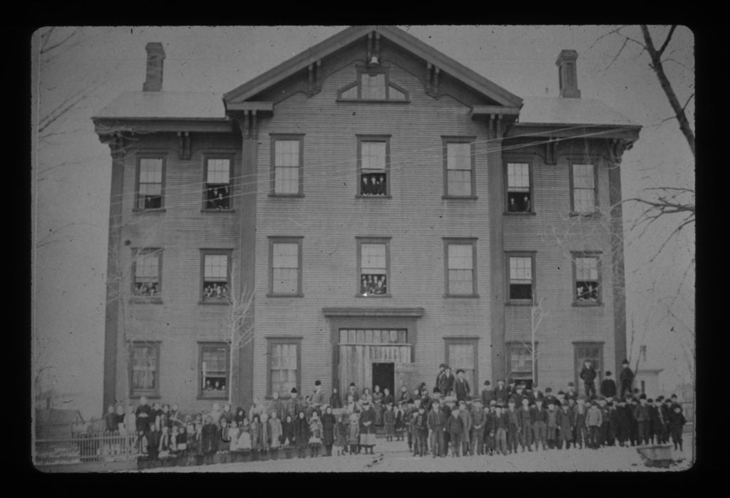
[[[575,50],[557,96],[527,97],[391,26],[223,95],[164,91],[146,48],[142,91],[93,117],[112,155],[105,405],[430,389],[441,362],[472,392],[620,370],[640,127],[581,97]]]

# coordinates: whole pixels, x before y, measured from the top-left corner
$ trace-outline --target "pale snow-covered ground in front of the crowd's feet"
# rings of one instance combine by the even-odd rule
[[[166,467],[139,472],[568,472],[634,471],[666,472],[691,467],[691,436],[685,435],[685,451],[672,451],[679,461],[669,469],[646,467],[636,448],[573,449],[518,453],[508,456],[413,458],[406,443],[377,440],[374,455],[320,456],[267,462]]]

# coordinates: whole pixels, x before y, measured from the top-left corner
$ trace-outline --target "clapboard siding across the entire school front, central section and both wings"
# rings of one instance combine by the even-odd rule
[[[445,359],[445,338],[477,338],[479,386],[492,376],[492,344],[502,330],[491,330],[491,231],[501,230],[501,251],[535,252],[536,295],[547,312],[537,331],[539,384],[564,387],[574,378],[574,341],[603,343],[604,365],[615,365],[614,284],[610,254],[609,175],[600,156],[599,141],[591,141],[591,160],[598,168],[599,206],[602,215],[570,217],[572,161],[582,159],[583,141],[558,146],[556,164],[546,164],[539,147],[519,147],[503,153],[503,163],[528,160],[533,167],[534,215],[502,216],[493,226],[490,214],[502,213],[488,195],[488,140],[485,121],[472,120],[473,104],[491,104],[448,77],[442,90],[448,95],[426,95],[423,61],[417,61],[387,42],[383,63],[390,66],[390,81],[410,96],[410,102],[383,104],[337,102],[337,92],[356,80],[356,63],[365,58],[364,45],[326,58],[321,91],[307,96],[306,72],[261,93],[256,100],[273,101],[272,117],[258,117],[255,176],[242,176],[242,138],[231,133],[192,135],[192,155],[180,160],[173,133],[139,136],[124,159],[123,230],[117,249],[124,279],[118,329],[128,340],[159,341],[160,395],[163,402],[178,402],[182,411],[200,411],[210,400],[199,394],[201,341],[225,341],[228,306],[201,305],[200,249],[230,249],[237,265],[251,254],[241,254],[242,220],[252,215],[243,209],[243,184],[255,185],[253,238],[255,264],[247,284],[255,289],[253,365],[239,369],[234,356],[233,386],[238,374],[253,376],[253,396],[267,394],[269,357],[266,338],[301,338],[300,392],[310,392],[315,379],[331,392],[333,347],[330,322],[323,308],[423,308],[415,319],[418,338],[412,359],[418,381],[429,386],[437,365]],[[269,195],[271,135],[303,135],[303,197]],[[390,136],[391,198],[358,198],[358,134]],[[444,199],[443,136],[475,138],[476,199]],[[575,142],[575,143],[573,143]],[[250,142],[247,142],[250,143]],[[596,147],[593,147],[597,144]],[[165,211],[133,211],[137,154],[163,153],[166,157]],[[201,212],[203,157],[206,152],[234,155],[234,200],[231,212]],[[499,158],[498,158],[499,159]],[[252,163],[247,163],[250,171]],[[497,164],[496,162],[493,164]],[[251,198],[247,198],[249,201]],[[112,199],[112,202],[117,201]],[[491,211],[493,210],[493,211]],[[250,219],[247,221],[251,221]],[[252,225],[253,226],[253,225]],[[303,237],[301,297],[267,297],[269,292],[269,237]],[[358,236],[389,238],[391,297],[358,297]],[[478,297],[445,297],[444,238],[475,238]],[[126,245],[126,241],[129,244]],[[163,249],[160,304],[131,304],[131,248]],[[602,306],[573,306],[571,252],[602,252]],[[116,256],[113,256],[116,257]],[[504,311],[504,340],[530,340],[530,307],[499,303]],[[504,309],[502,310],[502,306]],[[499,321],[498,321],[499,322]],[[397,327],[396,327],[397,328]],[[118,398],[126,387],[126,359],[118,334]],[[496,349],[499,351],[499,349]],[[237,353],[238,351],[236,351]],[[333,368],[334,367],[334,368]],[[355,375],[353,373],[353,375]],[[359,376],[360,374],[358,374]],[[358,386],[362,388],[364,386]],[[239,394],[239,389],[234,393]]]

